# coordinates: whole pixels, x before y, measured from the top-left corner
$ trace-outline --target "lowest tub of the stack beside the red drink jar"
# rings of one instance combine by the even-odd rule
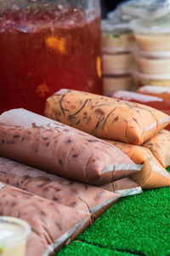
[[[116,90],[131,90],[133,78],[130,75],[104,76],[103,90],[105,96],[112,96]]]

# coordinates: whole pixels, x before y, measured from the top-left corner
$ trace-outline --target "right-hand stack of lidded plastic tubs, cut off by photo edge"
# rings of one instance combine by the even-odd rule
[[[152,21],[136,19],[130,26],[138,45],[133,49],[138,67],[133,73],[135,84],[170,87],[170,15]]]

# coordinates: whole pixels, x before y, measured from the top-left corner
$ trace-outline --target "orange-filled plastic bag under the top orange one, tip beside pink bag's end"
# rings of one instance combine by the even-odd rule
[[[120,148],[122,152],[127,154],[136,164],[144,164],[140,172],[130,176],[142,189],[155,189],[170,186],[170,173],[161,166],[160,162],[156,160],[156,157],[148,148],[128,143],[105,141]]]

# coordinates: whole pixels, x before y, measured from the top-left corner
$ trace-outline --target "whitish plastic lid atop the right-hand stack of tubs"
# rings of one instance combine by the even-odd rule
[[[166,15],[157,20],[131,20],[129,22],[129,28],[137,34],[170,33],[170,15]]]

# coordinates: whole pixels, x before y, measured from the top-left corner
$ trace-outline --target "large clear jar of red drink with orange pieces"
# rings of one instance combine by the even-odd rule
[[[98,0],[0,0],[0,113],[61,88],[102,94]]]

